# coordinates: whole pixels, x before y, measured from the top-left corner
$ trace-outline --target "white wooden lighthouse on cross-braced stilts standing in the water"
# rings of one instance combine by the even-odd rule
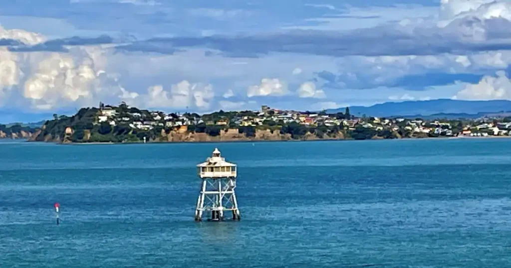
[[[237,165],[225,161],[215,148],[212,157],[197,165],[197,175],[202,180],[195,221],[202,221],[204,211],[211,211],[211,221],[223,221],[224,212],[231,211],[233,220],[240,220],[240,210],[236,201]]]

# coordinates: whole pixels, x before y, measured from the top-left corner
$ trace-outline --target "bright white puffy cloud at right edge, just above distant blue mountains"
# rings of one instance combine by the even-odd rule
[[[511,100],[511,81],[504,71],[496,76],[484,76],[477,84],[466,84],[453,99],[456,100]]]

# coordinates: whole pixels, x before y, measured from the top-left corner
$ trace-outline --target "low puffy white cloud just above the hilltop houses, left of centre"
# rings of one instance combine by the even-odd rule
[[[127,104],[146,108],[197,108],[209,109],[215,93],[213,86],[190,83],[183,80],[164,89],[162,85],[154,85],[147,89],[146,94],[133,95],[133,92],[123,92],[122,97]],[[127,97],[127,98],[126,98]]]

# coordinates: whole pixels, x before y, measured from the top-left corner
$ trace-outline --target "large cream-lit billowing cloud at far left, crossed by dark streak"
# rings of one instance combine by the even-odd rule
[[[23,30],[1,28],[0,36],[27,45],[48,42],[40,34]],[[114,93],[109,87],[115,85],[104,70],[103,52],[94,46],[71,47],[66,53],[25,53],[0,48],[3,100],[0,105],[29,105],[36,110],[50,110],[99,102]]]

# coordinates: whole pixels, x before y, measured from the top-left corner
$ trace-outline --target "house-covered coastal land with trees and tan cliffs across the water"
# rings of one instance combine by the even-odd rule
[[[300,112],[262,106],[252,111],[165,113],[104,105],[57,115],[32,129],[30,141],[59,143],[206,142],[262,140],[363,140],[509,136],[511,118],[425,120],[356,117],[344,112]],[[18,129],[16,129],[18,130]],[[11,130],[12,132],[12,130]],[[27,136],[27,135],[25,135]]]

